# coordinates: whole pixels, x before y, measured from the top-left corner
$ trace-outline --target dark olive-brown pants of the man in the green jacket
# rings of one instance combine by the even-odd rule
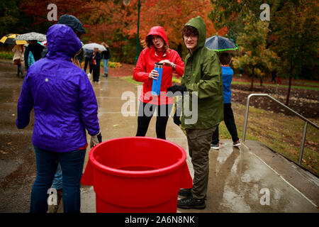
[[[207,193],[209,174],[209,150],[211,137],[216,126],[207,129],[186,128],[189,155],[194,167],[193,188],[191,193],[194,199],[203,199]]]

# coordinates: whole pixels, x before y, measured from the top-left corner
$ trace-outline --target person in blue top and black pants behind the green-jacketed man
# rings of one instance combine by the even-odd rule
[[[232,90],[230,89],[230,84],[233,79],[233,70],[230,68],[230,63],[232,62],[232,57],[228,52],[223,52],[219,55],[219,61],[222,65],[222,77],[223,77],[223,94],[224,94],[224,122],[228,129],[228,132],[232,136],[233,145],[235,147],[240,146],[240,141],[237,135],[237,128],[235,124],[235,118],[233,114],[231,98]],[[216,131],[213,133],[211,140],[211,148],[218,150],[219,145],[219,130],[218,126]]]

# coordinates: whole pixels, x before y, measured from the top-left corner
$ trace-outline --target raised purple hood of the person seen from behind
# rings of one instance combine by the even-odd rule
[[[81,41],[69,26],[55,24],[47,30],[47,58],[71,60],[81,48]]]

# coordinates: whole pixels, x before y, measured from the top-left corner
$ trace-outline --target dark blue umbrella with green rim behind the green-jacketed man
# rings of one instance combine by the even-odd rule
[[[237,44],[228,38],[214,35],[211,38],[207,38],[205,42],[206,48],[214,51],[227,51],[227,50],[239,50]]]

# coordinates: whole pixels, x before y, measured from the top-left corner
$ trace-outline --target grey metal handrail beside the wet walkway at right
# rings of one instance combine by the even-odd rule
[[[315,123],[313,123],[312,121],[309,121],[307,118],[305,118],[304,116],[301,116],[300,114],[298,114],[296,111],[293,111],[293,109],[290,109],[288,106],[286,106],[285,104],[282,104],[280,101],[278,101],[277,99],[274,99],[274,97],[270,96],[269,94],[250,94],[247,97],[247,102],[246,102],[246,110],[245,110],[245,120],[244,120],[244,128],[242,129],[242,141],[245,142],[245,138],[246,138],[246,129],[247,129],[247,119],[248,119],[248,111],[250,109],[250,98],[252,96],[265,96],[269,99],[272,99],[272,101],[275,101],[277,104],[283,106],[284,108],[288,109],[289,111],[293,112],[293,114],[295,114],[296,116],[298,116],[298,118],[301,118],[303,121],[305,121],[305,126],[303,127],[303,140],[301,141],[301,150],[300,150],[300,155],[299,155],[299,161],[298,164],[301,165],[301,160],[303,158],[303,148],[305,146],[305,140],[306,140],[306,132],[307,132],[307,127],[308,127],[308,123],[310,123],[310,125],[312,125],[313,127],[319,129],[319,126],[317,126]]]

